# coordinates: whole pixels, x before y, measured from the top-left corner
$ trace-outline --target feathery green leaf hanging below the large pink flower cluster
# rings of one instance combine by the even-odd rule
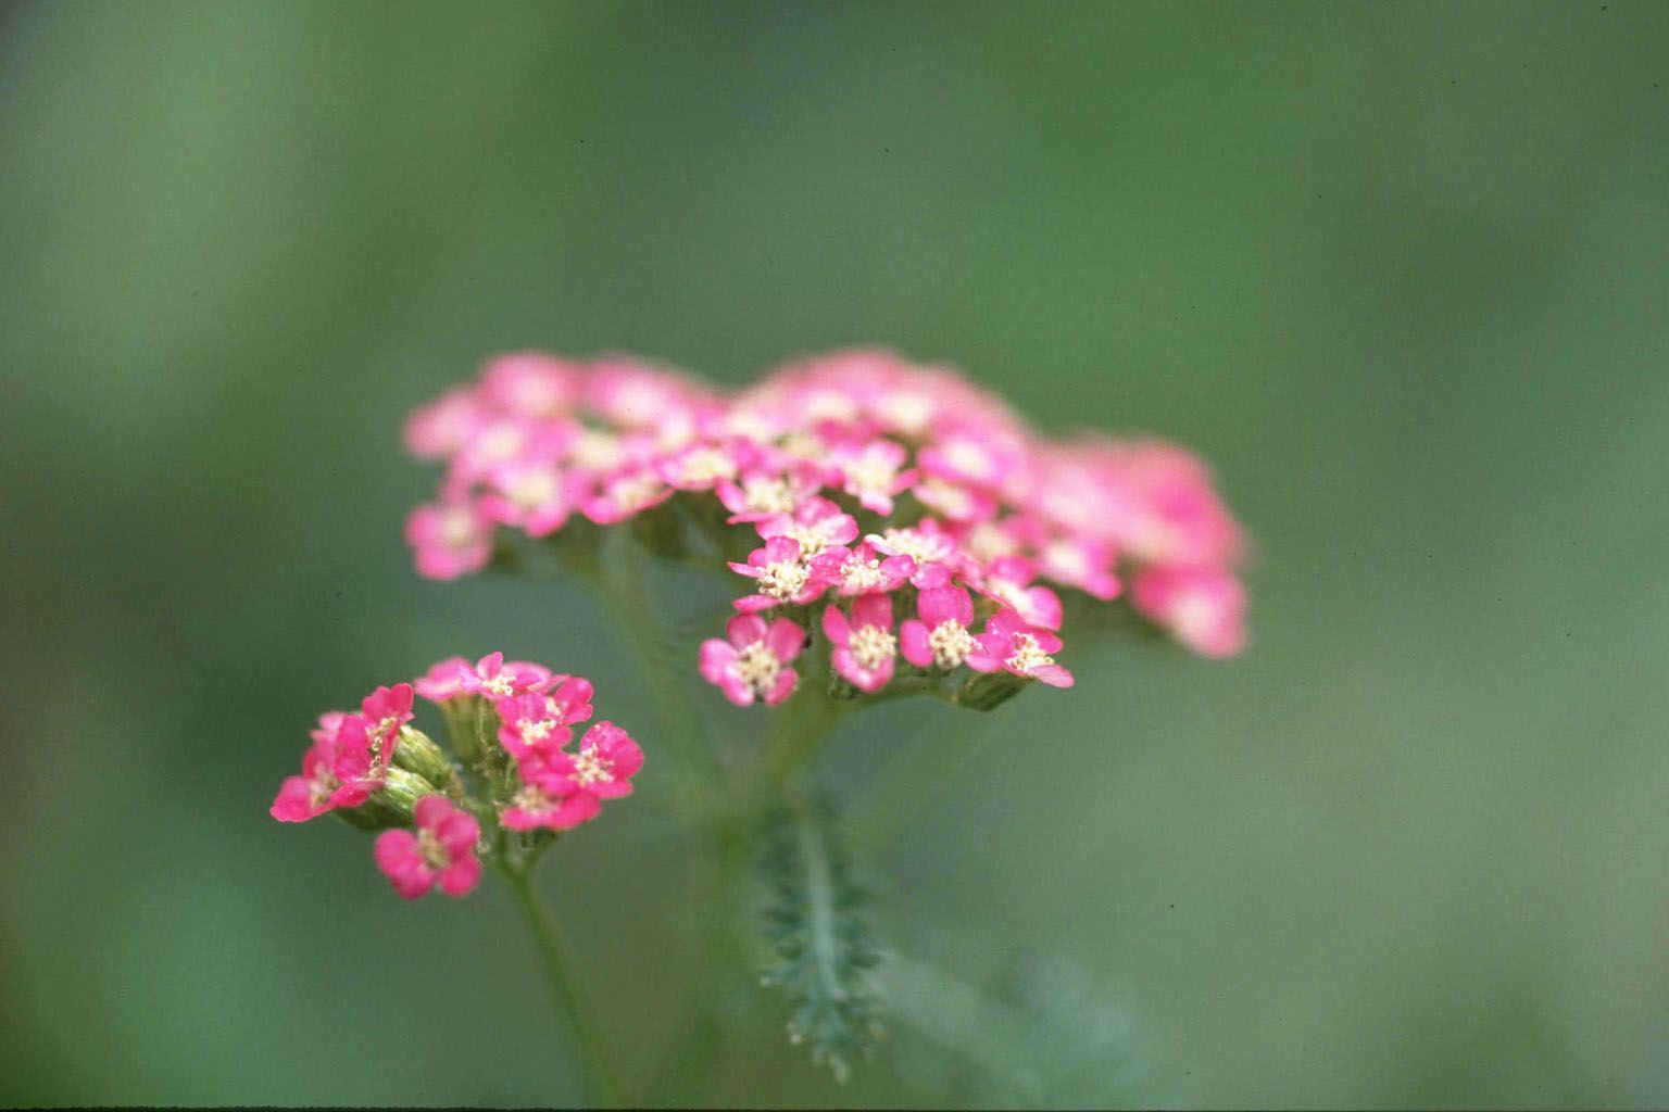
[[[761,927],[776,959],[763,980],[788,990],[788,1037],[843,1082],[881,1035],[881,945],[826,800],[794,800],[769,819],[761,869]]]

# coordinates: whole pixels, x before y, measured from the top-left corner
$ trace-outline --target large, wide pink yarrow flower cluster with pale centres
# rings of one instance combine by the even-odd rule
[[[738,617],[701,650],[736,704],[786,699],[818,629],[863,692],[893,682],[900,657],[916,674],[1068,687],[1061,592],[1128,595],[1205,655],[1245,644],[1245,543],[1192,453],[1050,440],[955,372],[886,352],[811,358],[731,393],[628,358],[504,355],[414,413],[406,442],[446,463],[407,522],[419,572],[437,579],[482,569],[497,528],[546,537],[574,515],[613,525],[716,500],[756,537],[729,562],[746,579]]]

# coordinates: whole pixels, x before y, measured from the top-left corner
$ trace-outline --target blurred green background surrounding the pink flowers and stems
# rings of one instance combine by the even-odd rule
[[[407,905],[265,814],[312,715],[454,652],[648,714],[582,590],[416,579],[401,420],[506,348],[851,343],[1180,438],[1258,543],[1238,662],[1078,642],[1063,697],[838,740],[858,797],[966,730],[855,804],[900,970],[1055,964],[1132,1017],[1145,1080],[1048,1099],[1669,1104],[1669,5],[0,35],[0,1104],[572,1099],[501,892]],[[551,857],[648,1069],[688,850],[621,805]],[[771,1002],[713,1099],[1001,1099],[926,1012],[838,1089]]]

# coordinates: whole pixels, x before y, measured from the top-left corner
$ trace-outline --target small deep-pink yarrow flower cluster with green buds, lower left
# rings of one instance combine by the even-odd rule
[[[412,720],[414,694],[442,710],[454,749],[471,754],[466,764],[482,780],[484,799],[464,797],[456,769],[446,769],[444,792],[396,769],[406,759],[402,730]],[[270,814],[304,822],[354,810],[384,799],[379,792],[391,779],[406,777],[407,789],[416,784],[427,794],[409,805],[416,830],[391,829],[377,837],[377,867],[406,899],[436,884],[447,895],[464,895],[481,877],[477,814],[506,830],[571,830],[596,819],[603,800],[631,794],[643,750],[626,730],[596,722],[571,745],[574,725],[591,719],[591,695],[589,680],[506,662],[497,652],[474,664],[442,660],[411,684],[379,687],[359,714],[322,715],[302,774],[284,780]],[[434,745],[417,734],[406,739]]]

